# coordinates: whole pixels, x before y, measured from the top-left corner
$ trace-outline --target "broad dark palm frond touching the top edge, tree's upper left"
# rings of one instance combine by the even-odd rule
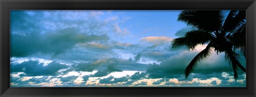
[[[219,10],[183,10],[178,16],[178,21],[186,22],[198,30],[216,31],[222,26],[223,12]]]

